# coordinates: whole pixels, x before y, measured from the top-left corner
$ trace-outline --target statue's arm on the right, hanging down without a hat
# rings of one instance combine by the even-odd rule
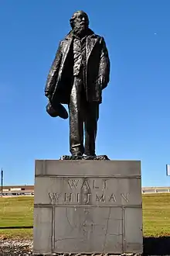
[[[110,59],[104,37],[100,38],[100,46],[101,51],[98,79],[100,80],[102,88],[106,88],[110,80]]]

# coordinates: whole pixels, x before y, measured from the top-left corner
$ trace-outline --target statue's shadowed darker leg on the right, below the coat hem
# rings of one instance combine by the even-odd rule
[[[95,141],[97,136],[97,120],[99,118],[99,104],[97,102],[87,102],[85,116],[85,154],[95,155]]]

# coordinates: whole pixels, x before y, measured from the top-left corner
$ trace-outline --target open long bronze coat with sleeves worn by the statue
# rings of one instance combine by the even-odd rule
[[[87,101],[101,102],[102,89],[107,87],[110,78],[110,60],[104,38],[88,31],[86,43],[86,81]],[[104,76],[103,88],[97,84],[97,78]],[[45,92],[52,95],[51,101],[69,104],[73,81],[73,33],[59,42],[56,57],[50,68]]]

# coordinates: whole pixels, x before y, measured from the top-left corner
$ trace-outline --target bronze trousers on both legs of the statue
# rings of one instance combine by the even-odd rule
[[[99,118],[99,103],[88,102],[84,82],[78,76],[73,77],[73,87],[70,93],[70,153],[95,155],[95,140],[97,136],[97,120]],[[84,129],[83,129],[84,128]],[[85,146],[83,147],[83,134]]]

